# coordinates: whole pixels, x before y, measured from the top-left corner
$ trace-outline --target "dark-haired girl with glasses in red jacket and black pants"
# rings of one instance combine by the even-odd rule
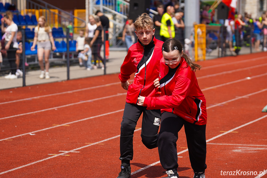
[[[139,106],[161,109],[158,151],[161,165],[168,178],[178,178],[176,141],[184,125],[187,147],[194,178],[205,178],[206,161],[206,100],[201,92],[195,71],[201,68],[183,54],[181,43],[169,39],[162,45],[163,58],[159,67],[161,96],[138,98]]]

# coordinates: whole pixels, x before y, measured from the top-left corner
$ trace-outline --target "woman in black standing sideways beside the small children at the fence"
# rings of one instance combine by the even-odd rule
[[[104,69],[104,61],[100,55],[100,50],[101,50],[101,46],[103,44],[104,41],[104,31],[103,31],[103,27],[101,25],[101,21],[99,16],[95,16],[95,21],[97,24],[97,28],[95,29],[94,32],[94,37],[92,39],[92,41],[90,42],[90,46],[92,46],[93,49],[93,59],[94,59],[94,66],[93,68],[97,68],[97,63],[98,63],[98,67]],[[101,62],[102,61],[102,65]]]

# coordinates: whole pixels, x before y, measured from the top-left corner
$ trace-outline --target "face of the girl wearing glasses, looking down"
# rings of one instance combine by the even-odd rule
[[[177,67],[181,61],[183,51],[180,53],[179,50],[173,50],[167,53],[162,51],[164,62],[172,69]]]

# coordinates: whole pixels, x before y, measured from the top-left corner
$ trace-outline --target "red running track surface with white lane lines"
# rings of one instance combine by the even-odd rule
[[[266,54],[198,62],[208,112],[207,178],[267,177],[267,113],[261,112],[267,104]],[[0,95],[1,178],[118,176],[126,98],[118,74],[0,90]],[[131,178],[160,178],[166,170],[158,150],[142,144],[141,122],[134,133]],[[193,177],[183,129],[177,151],[179,177]]]

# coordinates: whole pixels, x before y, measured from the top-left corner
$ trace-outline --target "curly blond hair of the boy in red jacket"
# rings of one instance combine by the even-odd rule
[[[140,15],[135,23],[134,23],[134,27],[136,30],[139,29],[148,29],[148,28],[154,28],[153,26],[153,20],[151,19],[151,17],[147,14],[147,13],[143,13],[142,15]]]

